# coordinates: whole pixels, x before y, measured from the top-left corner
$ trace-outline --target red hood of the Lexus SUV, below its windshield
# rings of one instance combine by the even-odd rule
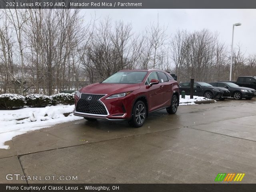
[[[94,83],[85,86],[81,93],[89,94],[117,94],[134,91],[140,88],[140,84],[118,84],[118,83]]]

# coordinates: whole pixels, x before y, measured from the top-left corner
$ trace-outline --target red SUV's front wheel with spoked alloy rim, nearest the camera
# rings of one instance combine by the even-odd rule
[[[132,119],[130,124],[136,128],[141,127],[146,121],[146,106],[144,102],[138,101],[132,110]]]

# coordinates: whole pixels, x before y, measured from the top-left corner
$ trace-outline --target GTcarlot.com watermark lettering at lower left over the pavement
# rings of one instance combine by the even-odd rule
[[[24,176],[20,174],[7,174],[5,176],[6,180],[30,180],[30,181],[54,181],[54,180],[61,180],[61,181],[77,181],[77,176],[70,176],[70,175],[61,175],[61,176],[54,176],[54,175],[46,175],[46,176]]]

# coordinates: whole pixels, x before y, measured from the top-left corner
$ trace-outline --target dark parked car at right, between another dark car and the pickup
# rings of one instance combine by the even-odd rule
[[[247,87],[240,87],[237,84],[231,82],[214,82],[210,84],[218,88],[227,88],[230,91],[230,96],[237,100],[242,98],[251,99],[253,96],[256,96],[256,90]]]

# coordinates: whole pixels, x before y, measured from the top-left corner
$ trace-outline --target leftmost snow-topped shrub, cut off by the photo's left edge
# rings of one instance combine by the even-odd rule
[[[20,108],[26,104],[25,97],[18,94],[2,94],[0,95],[0,108],[12,109]]]

